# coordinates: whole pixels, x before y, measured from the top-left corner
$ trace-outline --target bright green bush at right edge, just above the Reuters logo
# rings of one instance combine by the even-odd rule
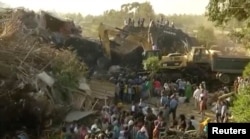
[[[250,87],[240,89],[233,102],[232,114],[235,122],[250,122]]]

